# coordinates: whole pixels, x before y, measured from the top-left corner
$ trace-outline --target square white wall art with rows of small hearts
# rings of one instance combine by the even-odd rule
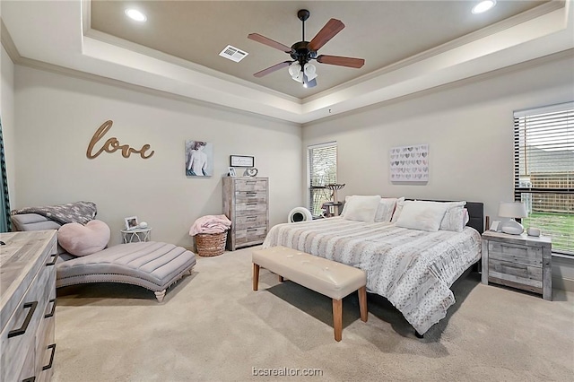
[[[429,181],[429,145],[391,148],[390,176],[391,182]]]

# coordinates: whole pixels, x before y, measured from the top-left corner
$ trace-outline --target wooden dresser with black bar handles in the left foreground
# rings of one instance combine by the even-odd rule
[[[56,343],[56,230],[0,234],[0,380],[48,381]]]

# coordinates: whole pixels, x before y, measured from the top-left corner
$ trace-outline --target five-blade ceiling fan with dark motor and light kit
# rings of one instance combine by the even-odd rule
[[[303,24],[302,38],[299,42],[291,45],[291,47],[283,45],[273,39],[268,39],[258,33],[250,33],[248,35],[248,39],[260,42],[271,48],[279,49],[291,56],[291,60],[270,66],[256,74],[253,74],[254,76],[257,78],[263,77],[264,75],[271,74],[283,67],[290,66],[289,73],[293,80],[303,82],[306,87],[313,87],[317,84],[317,81],[315,80],[317,74],[315,73],[315,66],[309,64],[309,61],[312,59],[317,60],[317,62],[321,64],[354,68],[360,68],[365,64],[365,60],[362,58],[328,55],[317,56],[317,50],[323,47],[330,39],[333,39],[337,33],[343,30],[344,23],[336,19],[329,20],[309,42],[305,40],[305,21],[309,19],[309,14],[309,11],[306,9],[301,9],[297,13],[297,17]]]

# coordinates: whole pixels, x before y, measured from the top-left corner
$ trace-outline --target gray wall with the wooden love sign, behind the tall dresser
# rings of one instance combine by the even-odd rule
[[[14,83],[13,208],[93,201],[112,245],[120,242],[124,218],[136,215],[152,227],[153,240],[191,247],[193,222],[222,213],[230,154],[254,155],[259,176],[269,178],[271,224],[302,203],[298,125],[21,65]],[[97,148],[117,137],[135,149],[149,143],[153,156],[86,158],[92,135],[108,119],[113,126]],[[213,143],[213,177],[185,176],[186,140]]]

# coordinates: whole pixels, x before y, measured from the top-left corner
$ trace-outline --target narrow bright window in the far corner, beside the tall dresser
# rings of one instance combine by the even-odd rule
[[[322,213],[321,207],[331,200],[332,192],[325,185],[336,183],[337,143],[309,146],[309,211],[313,216]]]

